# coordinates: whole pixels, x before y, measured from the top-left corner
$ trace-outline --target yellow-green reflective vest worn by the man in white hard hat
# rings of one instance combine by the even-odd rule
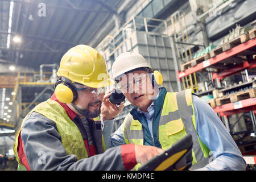
[[[193,166],[191,169],[204,167],[209,163],[210,150],[196,131],[195,109],[191,89],[180,92],[167,92],[164,98],[158,126],[158,139],[161,147],[167,150],[187,134],[193,138]],[[129,113],[123,125],[123,137],[127,144],[143,144],[142,124]]]

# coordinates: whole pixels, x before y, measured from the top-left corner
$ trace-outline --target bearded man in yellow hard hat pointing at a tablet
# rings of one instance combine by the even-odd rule
[[[104,138],[110,135],[104,133],[103,121],[123,105],[110,104],[109,92],[104,96],[104,87],[113,81],[96,49],[69,49],[57,76],[52,97],[26,115],[16,135],[18,170],[129,170],[163,151],[134,144],[106,150]]]

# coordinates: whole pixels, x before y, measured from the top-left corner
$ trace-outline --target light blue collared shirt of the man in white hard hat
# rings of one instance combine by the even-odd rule
[[[226,130],[220,118],[214,113],[212,107],[197,96],[193,96],[192,101],[195,107],[197,134],[199,135],[201,142],[209,148],[213,158],[211,163],[197,170],[245,170],[246,162],[242,158],[242,154],[238,149],[237,144]],[[147,118],[147,122],[149,122],[148,128],[152,137],[152,115],[154,115],[154,104],[151,104],[150,107],[148,107],[148,112],[143,112],[143,114]],[[104,138],[107,147],[126,144],[122,133],[123,124],[117,131],[115,131],[111,138],[107,136],[109,136],[109,133],[112,131],[113,121],[105,121],[104,124],[105,126],[108,125],[103,131],[104,134],[107,134]]]

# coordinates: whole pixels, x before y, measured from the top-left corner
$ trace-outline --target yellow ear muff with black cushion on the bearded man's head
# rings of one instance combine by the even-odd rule
[[[65,104],[76,101],[77,92],[72,84],[63,80],[58,80],[55,84],[55,95],[57,100]]]

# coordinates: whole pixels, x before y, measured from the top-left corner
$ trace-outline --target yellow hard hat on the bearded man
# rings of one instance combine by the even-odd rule
[[[96,49],[86,45],[73,47],[63,55],[57,76],[92,88],[114,84],[108,75],[104,57]]]

